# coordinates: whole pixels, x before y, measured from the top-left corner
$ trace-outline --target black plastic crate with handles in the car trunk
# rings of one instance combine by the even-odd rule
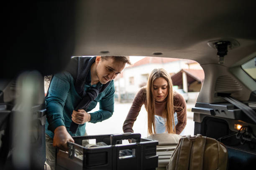
[[[69,151],[56,150],[56,170],[155,170],[158,166],[158,141],[141,138],[139,133],[79,136],[68,143]],[[106,146],[86,148],[82,140],[96,139]],[[122,144],[122,140],[136,139],[136,143]],[[83,158],[76,157],[75,150]],[[132,155],[120,156],[120,150],[131,150]]]

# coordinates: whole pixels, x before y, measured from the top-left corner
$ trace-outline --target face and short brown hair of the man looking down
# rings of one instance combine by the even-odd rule
[[[109,57],[108,59],[98,60],[98,57],[95,61],[96,74],[99,78],[100,83],[106,84],[107,82],[113,80],[125,67],[124,62],[115,61],[113,58]]]

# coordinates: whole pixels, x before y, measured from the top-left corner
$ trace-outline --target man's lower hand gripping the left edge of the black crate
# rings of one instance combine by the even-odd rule
[[[53,146],[61,150],[68,150],[67,142],[73,142],[73,138],[67,132],[65,126],[59,126],[54,130]]]

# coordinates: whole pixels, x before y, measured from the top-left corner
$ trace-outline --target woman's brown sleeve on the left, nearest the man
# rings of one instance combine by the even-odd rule
[[[145,87],[142,87],[141,90],[138,91],[136,94],[133,104],[131,105],[131,108],[128,112],[128,115],[123,123],[123,132],[133,133],[133,123],[135,122],[139,112],[141,111],[141,106],[143,105],[143,100],[146,97],[146,89]]]

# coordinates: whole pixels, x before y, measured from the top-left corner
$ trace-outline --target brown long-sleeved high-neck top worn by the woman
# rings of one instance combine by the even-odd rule
[[[155,115],[162,116],[166,102],[167,102],[166,100],[164,100],[163,102],[155,101],[155,108],[156,108]],[[176,134],[180,134],[187,124],[186,101],[184,100],[182,95],[174,91],[173,103],[174,103],[174,106],[179,106],[179,107],[174,107],[174,112],[177,112],[177,118],[178,118],[178,123],[175,126]],[[133,123],[135,122],[139,112],[141,111],[141,106],[143,104],[146,105],[146,87],[142,87],[141,90],[138,91],[138,93],[136,94],[133,100],[133,104],[128,112],[125,122],[123,123],[124,133],[127,133],[127,132],[133,133],[133,129],[132,129]],[[182,107],[183,109],[180,107]]]

